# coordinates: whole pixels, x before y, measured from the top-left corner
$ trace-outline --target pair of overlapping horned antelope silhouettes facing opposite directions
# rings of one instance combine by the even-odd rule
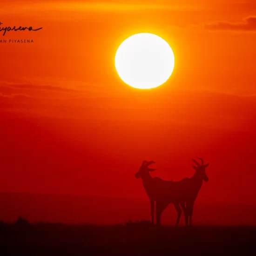
[[[153,224],[154,213],[156,213],[156,224],[161,225],[162,212],[170,203],[173,203],[178,214],[175,226],[179,224],[182,210],[185,215],[186,226],[188,226],[188,220],[189,225],[192,225],[195,199],[202,187],[202,182],[208,182],[209,180],[205,173],[205,168],[209,166],[209,163],[204,164],[202,158],[199,158],[199,160],[201,160],[201,164],[192,159],[196,164],[196,166],[192,166],[195,169],[195,174],[191,178],[184,178],[178,182],[164,181],[159,177],[152,178],[150,172],[155,171],[156,169],[148,168],[148,166],[155,162],[142,162],[142,165],[139,171],[135,174],[135,177],[137,179],[142,179],[144,189],[146,190],[151,202],[151,216]]]

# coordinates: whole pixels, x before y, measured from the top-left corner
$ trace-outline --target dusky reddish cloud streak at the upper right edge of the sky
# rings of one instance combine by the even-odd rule
[[[218,21],[204,26],[210,30],[256,31],[256,16],[250,16],[242,22]]]

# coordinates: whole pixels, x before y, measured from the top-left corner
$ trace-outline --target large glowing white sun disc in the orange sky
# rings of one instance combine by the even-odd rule
[[[115,68],[122,81],[139,89],[165,83],[174,69],[172,48],[160,36],[134,34],[124,40],[115,54]]]

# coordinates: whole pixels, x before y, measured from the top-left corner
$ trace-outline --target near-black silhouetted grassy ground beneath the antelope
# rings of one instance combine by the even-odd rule
[[[0,222],[0,255],[256,255],[256,227]]]

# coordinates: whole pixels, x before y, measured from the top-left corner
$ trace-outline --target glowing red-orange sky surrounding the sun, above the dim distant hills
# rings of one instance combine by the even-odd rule
[[[193,175],[210,162],[199,202],[256,204],[256,3],[253,0],[3,1],[0,192],[147,200],[134,177]],[[175,69],[152,90],[124,84],[115,51],[149,32]],[[149,210],[149,209],[148,209]]]

